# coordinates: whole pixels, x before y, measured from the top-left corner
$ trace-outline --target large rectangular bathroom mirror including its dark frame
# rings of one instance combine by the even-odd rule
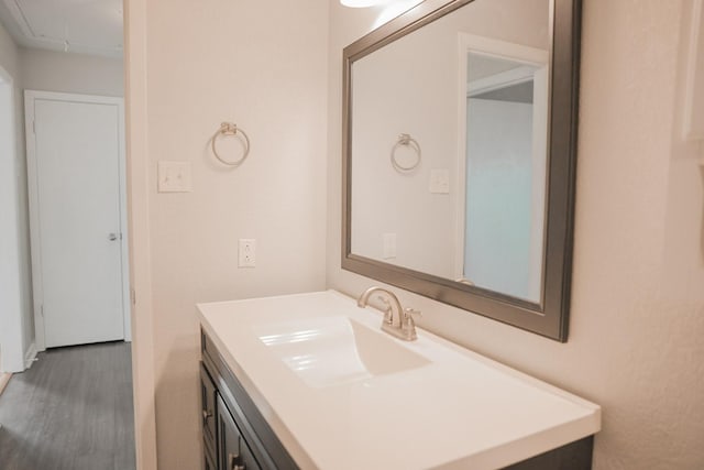
[[[426,0],[344,48],[342,267],[566,341],[580,0]]]

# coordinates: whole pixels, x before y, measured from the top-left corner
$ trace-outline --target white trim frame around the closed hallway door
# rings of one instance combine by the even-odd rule
[[[42,286],[42,255],[41,255],[41,225],[38,211],[38,179],[36,144],[34,138],[34,102],[35,100],[50,100],[63,102],[84,102],[97,105],[112,105],[118,107],[118,134],[120,147],[119,159],[119,197],[120,197],[120,250],[121,250],[121,281],[122,281],[122,327],[124,340],[131,341],[130,318],[130,277],[129,277],[129,243],[128,243],[128,215],[127,215],[127,182],[125,182],[125,138],[124,138],[124,99],[98,95],[78,95],[55,91],[24,90],[24,125],[26,135],[26,176],[28,196],[30,206],[30,250],[32,253],[32,287],[34,306],[34,330],[37,351],[44,351],[44,294]]]

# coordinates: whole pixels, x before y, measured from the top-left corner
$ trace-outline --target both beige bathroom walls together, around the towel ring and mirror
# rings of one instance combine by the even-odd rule
[[[142,395],[138,426],[148,428],[155,405],[160,468],[198,466],[195,303],[326,285],[356,295],[373,283],[339,267],[340,84],[342,47],[381,9],[289,3],[134,7],[138,394],[156,389],[155,404]],[[595,468],[700,468],[704,195],[696,149],[674,138],[691,0],[584,3],[569,342],[409,293],[402,299],[424,310],[421,326],[601,404]],[[222,120],[252,139],[238,170],[208,154]],[[160,160],[190,161],[194,193],[157,194]],[[237,269],[238,238],[257,239],[256,269]]]

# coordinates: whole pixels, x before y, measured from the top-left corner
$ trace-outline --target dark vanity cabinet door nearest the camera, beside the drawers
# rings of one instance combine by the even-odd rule
[[[220,470],[260,470],[224,402],[218,395],[218,468]]]

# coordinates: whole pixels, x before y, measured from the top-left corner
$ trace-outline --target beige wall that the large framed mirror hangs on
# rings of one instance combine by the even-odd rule
[[[584,1],[566,343],[394,288],[420,326],[602,405],[595,469],[704,467],[704,178],[678,140],[691,4]],[[378,283],[340,269],[340,58],[382,10],[330,11],[328,285],[350,295]]]

